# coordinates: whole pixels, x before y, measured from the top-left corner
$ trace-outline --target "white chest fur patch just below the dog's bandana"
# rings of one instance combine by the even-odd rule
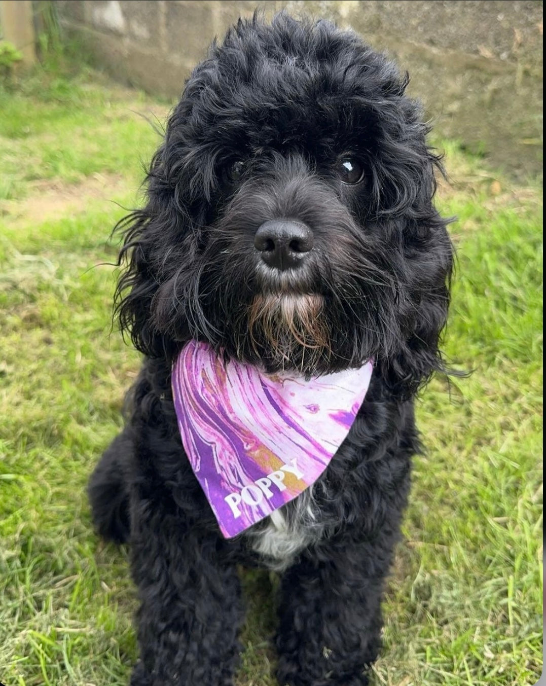
[[[248,533],[250,547],[267,567],[283,571],[298,553],[322,535],[324,526],[313,498],[313,486],[287,506],[272,512],[266,521],[265,528]]]

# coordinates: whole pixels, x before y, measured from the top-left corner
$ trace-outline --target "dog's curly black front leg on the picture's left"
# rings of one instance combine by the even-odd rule
[[[131,686],[231,686],[242,620],[235,566],[216,540],[155,512],[132,536],[141,659]]]

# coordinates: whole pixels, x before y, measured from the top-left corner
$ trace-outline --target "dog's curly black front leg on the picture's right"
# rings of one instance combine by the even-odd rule
[[[390,542],[335,546],[287,570],[277,637],[280,686],[365,686],[380,646]],[[385,549],[386,548],[386,549]],[[330,554],[330,553],[329,553]]]

